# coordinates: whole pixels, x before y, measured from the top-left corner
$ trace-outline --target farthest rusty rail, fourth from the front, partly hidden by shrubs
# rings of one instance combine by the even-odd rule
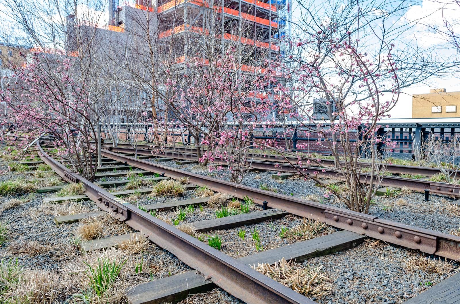
[[[105,144],[105,146],[108,146]],[[147,150],[154,150],[157,152],[163,152],[163,151],[168,151],[168,152],[182,152],[182,153],[193,153],[196,154],[196,148],[192,147],[161,147],[161,146],[149,146],[149,145],[136,145],[138,149],[147,149]],[[132,148],[131,144],[125,144],[125,143],[119,143],[117,147],[126,147],[126,148]],[[287,162],[287,159],[291,163],[297,163],[299,161],[298,158],[295,157],[282,157],[279,155],[269,155],[269,154],[254,154],[254,153],[248,153],[247,155],[248,159],[255,159],[255,160],[266,160],[266,161],[272,161],[272,162],[278,162],[278,163],[285,163]],[[302,159],[302,158],[301,158]],[[306,160],[306,158],[304,159]],[[322,165],[324,166],[334,166],[334,160],[332,159],[320,159],[319,161]],[[370,167],[368,163],[362,162],[360,163],[362,167]],[[412,175],[425,175],[425,176],[430,176],[430,175],[435,175],[442,173],[441,170],[438,168],[431,168],[431,167],[417,167],[417,166],[405,166],[405,165],[395,165],[395,164],[386,164],[385,165],[386,171],[389,171],[391,173],[395,174],[412,174]],[[460,177],[460,172],[454,171],[454,170],[447,170],[449,174],[452,177]]]

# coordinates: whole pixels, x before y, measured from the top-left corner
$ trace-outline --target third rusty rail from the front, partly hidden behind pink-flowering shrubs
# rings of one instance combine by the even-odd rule
[[[134,153],[134,148],[130,147],[112,147],[112,146],[103,146],[104,150],[113,151],[113,152],[127,152]],[[137,154],[140,155],[151,155],[151,156],[165,156],[170,158],[179,158],[179,159],[188,159],[188,160],[198,160],[196,154],[190,154],[186,152],[170,152],[162,151],[155,152],[150,149],[136,149]],[[337,180],[344,180],[345,177],[340,175],[337,171],[333,169],[324,169],[322,171],[318,167],[300,167],[300,166],[291,166],[287,163],[272,163],[272,162],[262,162],[262,161],[252,161],[249,164],[249,167],[252,169],[258,170],[268,170],[268,171],[277,171],[277,172],[287,172],[287,173],[296,173],[299,171],[304,174],[316,174],[319,177],[331,178]],[[362,173],[360,175],[360,180],[362,183],[368,183],[370,181],[370,174]],[[381,178],[380,186],[385,187],[403,187],[406,186],[410,190],[424,192],[426,189],[431,193],[449,195],[454,197],[460,196],[460,185],[441,183],[430,180],[415,180],[410,178],[403,178],[398,176],[374,176],[374,182],[377,182]]]

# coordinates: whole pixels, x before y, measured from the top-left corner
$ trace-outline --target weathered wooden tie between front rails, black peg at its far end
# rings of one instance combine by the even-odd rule
[[[270,219],[280,219],[288,215],[287,212],[275,212],[272,210],[261,210],[252,213],[226,216],[224,218],[202,220],[192,223],[196,232],[206,232],[219,229],[231,229],[242,225],[252,225]]]

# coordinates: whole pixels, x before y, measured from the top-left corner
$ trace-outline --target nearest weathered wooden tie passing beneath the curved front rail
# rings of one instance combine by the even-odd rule
[[[364,240],[364,236],[350,231],[339,231],[326,236],[275,248],[265,252],[254,253],[238,259],[244,264],[275,263],[285,258],[303,262],[305,259],[352,248]],[[200,283],[201,282],[201,283]],[[201,285],[200,285],[201,284]],[[132,304],[156,304],[163,302],[177,303],[186,298],[190,287],[196,293],[203,293],[215,287],[204,276],[190,270],[179,275],[170,276],[127,289],[126,298]]]

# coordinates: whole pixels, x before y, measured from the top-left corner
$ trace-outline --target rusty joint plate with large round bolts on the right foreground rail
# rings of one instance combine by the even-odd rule
[[[326,223],[337,228],[364,234],[385,242],[403,247],[418,249],[434,254],[437,251],[437,237],[410,231],[376,221],[364,220],[336,212],[325,210]]]

